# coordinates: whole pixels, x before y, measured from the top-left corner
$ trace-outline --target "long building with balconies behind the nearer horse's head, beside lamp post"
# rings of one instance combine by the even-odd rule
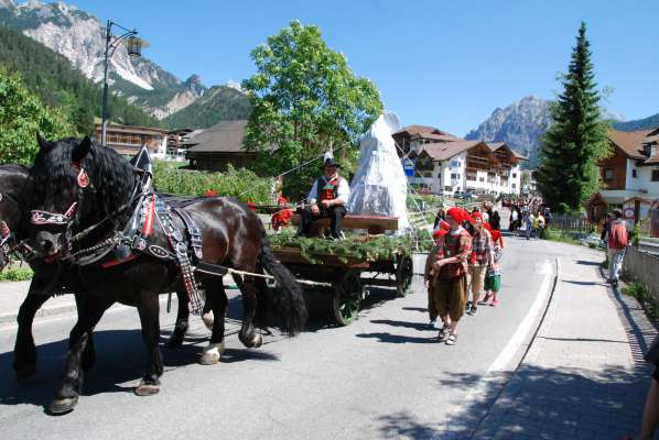
[[[96,141],[100,143],[100,123],[96,124],[94,133]],[[136,155],[142,145],[147,145],[152,156],[163,157],[168,150],[168,131],[151,127],[108,124],[106,144],[126,156]]]

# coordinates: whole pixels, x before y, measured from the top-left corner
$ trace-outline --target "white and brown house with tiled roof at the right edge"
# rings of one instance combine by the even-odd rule
[[[607,136],[613,153],[598,164],[599,195],[609,206],[630,208],[635,219],[645,219],[659,198],[659,128],[609,130]]]

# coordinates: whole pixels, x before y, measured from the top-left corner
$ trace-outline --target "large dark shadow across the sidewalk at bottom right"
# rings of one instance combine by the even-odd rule
[[[451,416],[442,433],[429,438],[543,438],[541,435],[559,433],[560,438],[576,438],[585,432],[593,438],[620,438],[638,429],[650,383],[646,370],[557,371],[523,365],[496,405],[501,382],[487,381],[482,393]],[[482,380],[449,373],[440,380],[440,387],[469,387]]]

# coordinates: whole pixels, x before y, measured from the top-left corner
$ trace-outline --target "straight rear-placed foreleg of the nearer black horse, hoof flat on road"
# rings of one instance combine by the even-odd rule
[[[160,376],[162,376],[162,355],[158,341],[160,338],[160,302],[158,294],[142,290],[140,307],[140,322],[142,324],[142,339],[147,345],[148,366],[134,393],[138,396],[152,396],[160,392]]]

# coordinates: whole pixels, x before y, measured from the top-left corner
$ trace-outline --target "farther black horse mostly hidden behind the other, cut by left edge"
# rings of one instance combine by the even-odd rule
[[[29,176],[30,170],[24,166],[0,165],[0,224],[4,226],[3,230],[8,233],[8,237],[0,239],[3,239],[6,244],[0,248],[0,271],[10,262],[8,251],[15,250],[17,246],[21,248],[21,241],[28,238],[22,217],[30,194]],[[74,294],[79,311],[83,298],[77,293],[84,292],[84,286],[78,280],[77,267],[44,258],[30,258],[29,264],[34,275],[17,317],[18,332],[13,351],[12,366],[19,381],[24,381],[36,372],[36,348],[32,336],[32,323],[39,309],[54,295]],[[176,348],[183,343],[188,327],[187,296],[184,292],[177,292],[176,296],[179,312],[174,331],[168,341],[169,348]],[[85,348],[82,361],[84,370],[88,370],[96,359],[93,342],[93,338],[89,338]]]

